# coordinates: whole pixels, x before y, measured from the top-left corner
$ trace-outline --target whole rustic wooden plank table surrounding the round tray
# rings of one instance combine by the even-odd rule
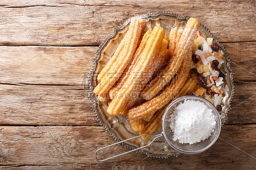
[[[98,162],[115,143],[99,125],[88,75],[100,42],[148,11],[195,17],[225,46],[235,71],[232,110],[206,152],[168,159],[130,153]],[[2,0],[1,169],[256,169],[256,2]],[[126,152],[116,146],[106,155]]]

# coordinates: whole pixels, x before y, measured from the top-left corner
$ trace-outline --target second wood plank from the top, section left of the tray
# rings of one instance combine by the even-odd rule
[[[0,82],[88,87],[97,47],[0,47]]]

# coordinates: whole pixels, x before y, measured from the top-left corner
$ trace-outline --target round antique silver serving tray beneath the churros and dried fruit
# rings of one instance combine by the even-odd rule
[[[180,26],[185,27],[185,24],[188,21],[188,16],[180,16],[177,13],[173,12],[163,12],[159,11],[155,14],[152,14],[148,12],[146,15],[137,16],[138,18],[145,19],[147,22],[147,26],[145,28],[145,31],[149,28],[153,28],[154,26],[158,25],[164,28],[165,33],[168,35],[170,32],[170,29],[173,26]],[[135,18],[135,17],[134,17]],[[106,110],[108,108],[108,103],[100,102],[96,95],[93,93],[93,89],[97,85],[97,74],[102,70],[102,68],[106,65],[110,57],[115,52],[117,46],[121,42],[121,40],[124,37],[124,34],[126,33],[129,23],[131,19],[128,19],[122,26],[114,27],[114,31],[111,35],[108,35],[105,40],[102,41],[99,48],[97,49],[97,55],[94,59],[92,59],[93,65],[92,69],[90,71],[89,75],[89,85],[90,85],[90,94],[89,98],[92,100],[92,108],[93,111],[100,123],[100,125],[104,126],[106,129],[106,132],[109,133],[114,137],[116,142],[123,141],[125,139],[135,137],[138,135],[138,132],[134,132],[130,126],[130,122],[128,121],[128,118],[123,115],[118,116],[112,116],[109,115]],[[221,104],[223,105],[222,111],[225,113],[226,118],[224,119],[223,124],[226,122],[228,118],[228,111],[231,109],[230,103],[233,98],[234,92],[235,92],[235,85],[233,81],[233,74],[234,71],[230,68],[230,59],[228,57],[226,49],[221,45],[218,41],[218,38],[213,36],[210,31],[202,24],[199,26],[199,32],[203,33],[205,36],[204,38],[212,37],[213,41],[219,46],[219,48],[224,53],[224,64],[221,66],[222,72],[226,74],[225,78],[223,78],[223,81],[225,84],[228,85],[229,88],[229,96],[223,97]],[[161,129],[161,128],[160,128]],[[156,132],[156,133],[160,133]],[[146,145],[150,142],[144,141],[141,138],[137,138],[135,140],[132,140],[130,142],[122,143],[121,145],[129,148],[129,149],[135,149],[138,147],[141,147],[143,145]],[[177,152],[173,150],[165,141],[164,139],[160,139],[155,141],[151,146],[148,146],[142,150],[136,151],[137,153],[144,153],[149,157],[153,158],[168,158],[169,156],[175,156],[177,157],[180,155],[180,152]]]

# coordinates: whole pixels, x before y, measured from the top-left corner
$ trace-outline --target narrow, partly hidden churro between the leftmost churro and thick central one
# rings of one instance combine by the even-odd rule
[[[122,86],[124,85],[125,81],[127,80],[127,78],[130,76],[130,74],[132,73],[132,70],[134,69],[134,67],[136,66],[136,64],[138,63],[138,61],[140,60],[140,56],[141,53],[143,52],[143,49],[145,48],[148,38],[152,32],[153,28],[150,28],[144,35],[143,38],[140,42],[140,46],[136,49],[134,55],[133,55],[133,60],[132,62],[129,63],[128,65],[128,69],[125,69],[126,74],[123,76],[123,78],[117,83],[117,85],[115,87],[112,87],[108,94],[111,100],[114,99],[114,97],[116,96],[116,93],[122,88]]]

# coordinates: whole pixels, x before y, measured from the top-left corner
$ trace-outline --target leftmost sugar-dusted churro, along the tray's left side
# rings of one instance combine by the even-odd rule
[[[132,56],[136,50],[141,32],[145,26],[146,22],[143,19],[136,18],[131,20],[129,30],[126,33],[127,36],[125,35],[124,39],[122,40],[124,42],[121,41],[121,44],[119,45],[121,48],[123,47],[122,51],[120,52],[121,49],[118,46],[118,50],[116,50],[112,56],[114,57],[113,60],[111,60],[111,57],[110,61],[100,72],[98,76],[98,81],[100,81],[100,83],[93,90],[95,94],[104,96],[122,75],[124,69],[132,60]]]

